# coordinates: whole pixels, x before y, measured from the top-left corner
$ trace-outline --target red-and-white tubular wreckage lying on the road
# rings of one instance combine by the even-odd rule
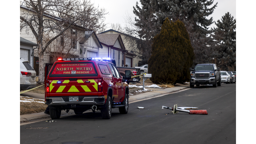
[[[163,108],[173,110],[172,111],[173,114],[176,114],[178,112],[186,112],[186,113],[189,113],[189,114],[205,114],[205,115],[208,114],[206,110],[187,110],[187,109],[198,109],[198,108],[196,108],[196,107],[185,107],[185,108],[182,108],[182,107],[177,107],[177,104],[175,104],[173,106],[173,108],[162,106],[162,109]]]

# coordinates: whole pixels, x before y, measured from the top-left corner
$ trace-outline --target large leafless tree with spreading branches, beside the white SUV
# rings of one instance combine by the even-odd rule
[[[89,0],[21,0],[20,30],[32,31],[39,57],[38,83],[44,83],[44,53],[47,47],[70,27],[97,31],[104,27],[105,9],[94,7]],[[43,40],[45,34],[53,37]]]

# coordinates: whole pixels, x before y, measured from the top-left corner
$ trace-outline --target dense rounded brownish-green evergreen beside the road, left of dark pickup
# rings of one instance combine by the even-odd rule
[[[189,79],[194,59],[193,47],[184,24],[165,19],[161,31],[153,38],[152,55],[148,61],[150,80],[154,83],[175,83]]]

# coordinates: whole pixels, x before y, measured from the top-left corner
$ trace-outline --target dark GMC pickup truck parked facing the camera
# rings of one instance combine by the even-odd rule
[[[216,64],[197,64],[194,69],[189,68],[190,88],[200,84],[213,85],[213,87],[221,86],[220,68]]]

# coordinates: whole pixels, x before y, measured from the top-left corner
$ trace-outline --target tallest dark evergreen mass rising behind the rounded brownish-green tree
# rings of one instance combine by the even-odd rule
[[[213,0],[140,0],[141,7],[133,7],[136,15],[136,25],[143,37],[154,37],[160,32],[160,26],[166,17],[172,21],[180,20],[185,24],[189,33],[191,45],[194,48],[195,64],[207,63],[212,59],[212,45],[215,42],[209,36],[209,26],[213,23],[210,16],[217,6]],[[212,6],[212,7],[211,7]],[[150,17],[151,16],[151,17]],[[150,25],[147,22],[151,20]],[[151,47],[148,47],[151,49]]]

